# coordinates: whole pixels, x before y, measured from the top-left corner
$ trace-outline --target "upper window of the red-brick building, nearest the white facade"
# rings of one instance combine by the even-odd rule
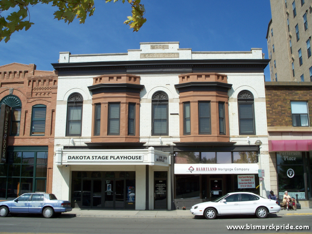
[[[31,135],[44,135],[45,116],[47,107],[45,105],[35,105],[31,117]]]

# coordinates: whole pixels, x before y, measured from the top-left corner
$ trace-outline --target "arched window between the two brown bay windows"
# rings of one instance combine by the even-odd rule
[[[152,135],[168,136],[168,95],[157,91],[152,96]]]

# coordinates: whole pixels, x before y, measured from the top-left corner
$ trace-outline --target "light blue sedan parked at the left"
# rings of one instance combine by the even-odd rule
[[[28,193],[11,201],[0,202],[0,217],[9,213],[15,214],[42,214],[45,218],[72,211],[70,201],[58,200],[54,194]]]

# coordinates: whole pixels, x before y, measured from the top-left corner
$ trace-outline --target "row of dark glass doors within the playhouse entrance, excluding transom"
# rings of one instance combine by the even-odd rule
[[[91,208],[124,209],[125,179],[82,180],[82,206]]]

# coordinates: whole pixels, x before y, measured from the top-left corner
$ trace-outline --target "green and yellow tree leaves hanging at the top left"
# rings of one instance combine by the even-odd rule
[[[114,3],[118,0],[105,0]],[[119,0],[120,1],[120,0]],[[128,16],[125,24],[130,25],[134,32],[137,32],[146,22],[144,18],[145,8],[141,0],[121,0],[122,3],[131,4],[132,16]],[[92,16],[95,11],[94,0],[0,0],[0,41],[10,40],[14,32],[25,29],[27,31],[34,23],[30,21],[29,6],[42,4],[52,4],[58,7],[54,13],[54,18],[71,23],[75,18],[80,23],[84,23],[87,16]],[[3,17],[7,11],[13,10],[8,16]]]

